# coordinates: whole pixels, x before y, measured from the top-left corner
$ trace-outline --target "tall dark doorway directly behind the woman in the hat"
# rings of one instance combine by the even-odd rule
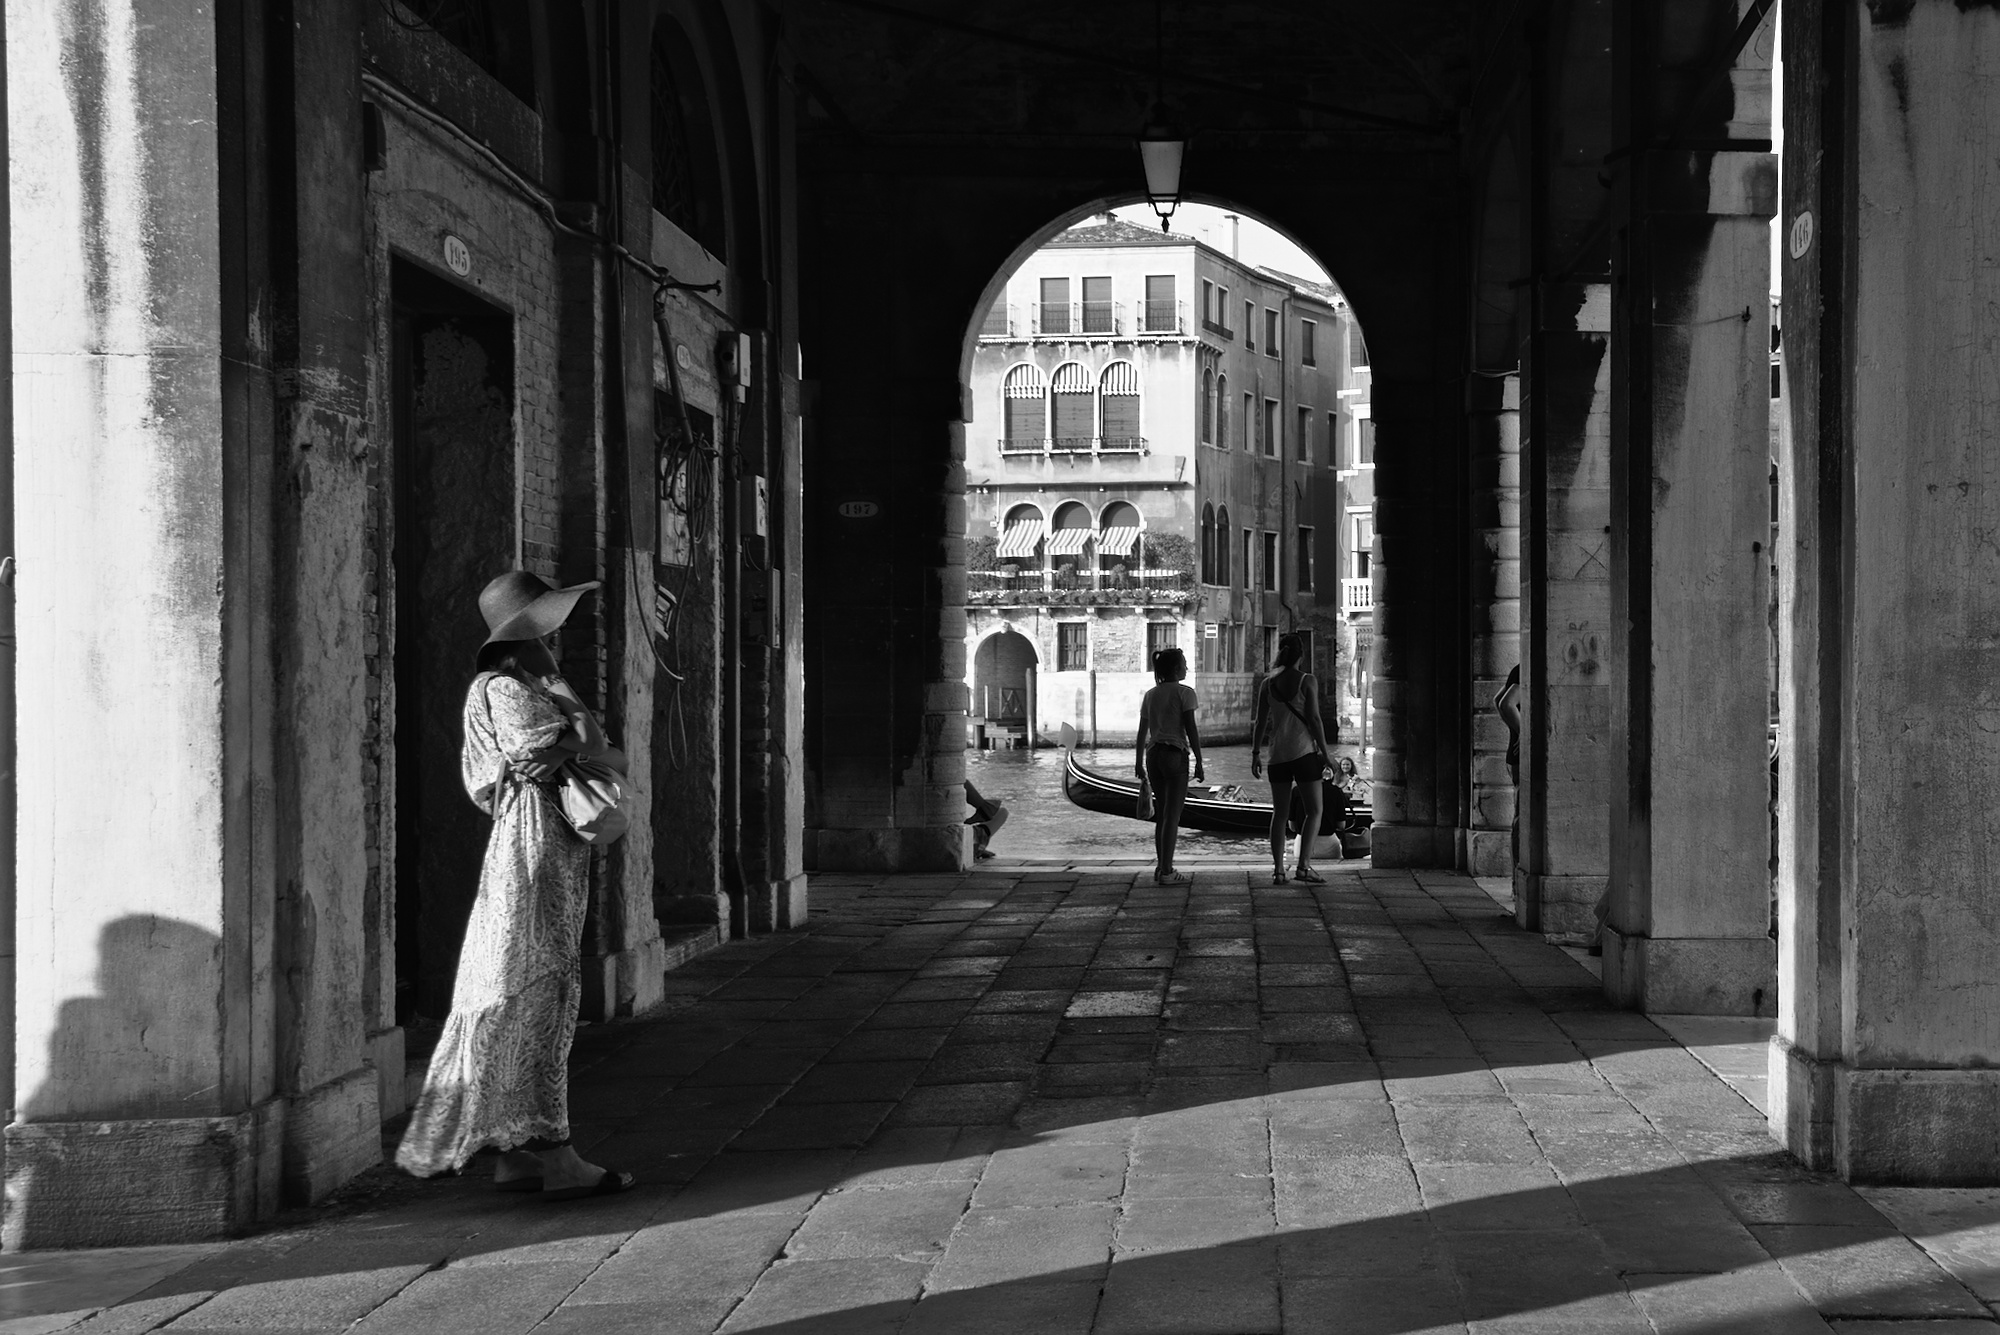
[[[460,743],[478,596],[516,566],[514,320],[404,260],[390,300],[396,1023],[410,1025],[450,1011],[486,851]]]

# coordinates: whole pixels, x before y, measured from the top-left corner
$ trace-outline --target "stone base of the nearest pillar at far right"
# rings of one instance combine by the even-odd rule
[[[1884,1187],[2000,1185],[2000,1071],[1874,1069],[1770,1047],[1770,1123],[1802,1163]]]

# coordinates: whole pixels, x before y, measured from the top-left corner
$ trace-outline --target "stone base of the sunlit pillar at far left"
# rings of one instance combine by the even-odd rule
[[[372,1091],[372,1071],[368,1083]],[[16,1121],[6,1129],[0,1247],[140,1247],[242,1233],[278,1211],[284,1123],[284,1099],[236,1117]]]

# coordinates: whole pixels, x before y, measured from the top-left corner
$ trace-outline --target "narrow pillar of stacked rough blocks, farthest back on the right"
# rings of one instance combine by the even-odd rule
[[[1514,777],[1494,695],[1520,662],[1520,376],[1466,382],[1472,434],[1472,803],[1466,869],[1514,873]]]

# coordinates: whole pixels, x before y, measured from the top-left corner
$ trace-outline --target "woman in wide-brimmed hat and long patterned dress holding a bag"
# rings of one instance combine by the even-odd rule
[[[562,817],[556,773],[572,755],[614,751],[558,675],[544,636],[594,588],[556,590],[516,570],[480,594],[492,634],[466,691],[462,771],[494,825],[452,1013],[396,1149],[396,1163],[420,1177],[456,1171],[496,1147],[502,1191],[570,1199],[634,1185],[630,1173],[586,1163],[570,1145],[590,845]]]

